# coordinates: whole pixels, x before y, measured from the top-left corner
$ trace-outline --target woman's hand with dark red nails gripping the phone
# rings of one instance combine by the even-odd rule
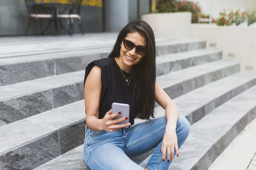
[[[128,124],[117,124],[118,122],[123,122],[124,120],[127,120],[128,117],[122,117],[113,120],[113,118],[120,115],[120,112],[112,113],[112,109],[109,110],[104,118],[100,119],[100,129],[108,132],[115,132],[123,127],[127,127],[131,125],[131,123]]]

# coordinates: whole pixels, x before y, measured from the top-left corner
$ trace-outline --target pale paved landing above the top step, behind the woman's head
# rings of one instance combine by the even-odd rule
[[[113,46],[118,32],[74,34],[74,36],[21,36],[0,38],[0,59],[32,54],[72,52],[84,49]],[[174,39],[174,38],[173,38]],[[166,41],[156,38],[156,41]]]

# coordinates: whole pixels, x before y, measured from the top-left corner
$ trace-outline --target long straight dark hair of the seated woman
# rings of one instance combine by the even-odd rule
[[[133,66],[134,97],[138,101],[139,118],[154,117],[155,82],[156,82],[156,43],[154,32],[143,20],[133,20],[119,32],[116,43],[109,57],[120,57],[122,40],[131,32],[139,32],[147,41],[145,56]],[[134,101],[134,99],[133,99]]]

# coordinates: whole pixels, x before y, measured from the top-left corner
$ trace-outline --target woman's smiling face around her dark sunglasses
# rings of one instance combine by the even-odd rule
[[[130,41],[129,43],[133,43],[136,46],[147,46],[147,41],[143,36],[141,36],[139,32],[128,33],[125,39]],[[124,46],[124,41],[122,41],[121,43],[120,57],[118,57],[118,64],[127,73],[130,73],[132,66],[140,62],[140,60],[143,58],[143,55],[137,53],[138,50],[140,49],[137,49],[137,52],[136,52],[136,48],[137,47],[134,47],[131,50],[128,50]]]

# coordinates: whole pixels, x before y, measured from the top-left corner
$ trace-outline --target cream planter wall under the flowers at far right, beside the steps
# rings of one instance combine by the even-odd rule
[[[256,27],[201,25],[199,38],[207,48],[223,51],[224,60],[241,62],[240,70],[256,73]]]

